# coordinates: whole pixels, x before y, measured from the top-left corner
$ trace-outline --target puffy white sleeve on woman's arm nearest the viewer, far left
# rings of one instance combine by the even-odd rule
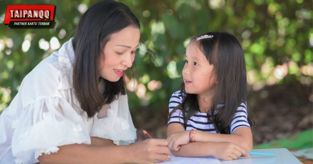
[[[90,144],[80,115],[61,97],[41,97],[29,103],[12,128],[15,128],[12,138],[15,163],[33,161],[42,153],[55,153],[58,146]]]

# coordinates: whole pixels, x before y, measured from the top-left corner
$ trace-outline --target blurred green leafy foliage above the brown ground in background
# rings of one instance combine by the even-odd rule
[[[26,74],[55,51],[51,47],[40,49],[38,42],[43,42],[43,39],[49,42],[56,37],[62,45],[74,34],[82,15],[79,8],[83,10],[95,2],[0,1],[2,21],[8,4],[54,4],[57,22],[53,29],[10,29],[3,23],[0,25],[0,111],[16,95]],[[245,51],[248,82],[254,89],[292,80],[311,83],[312,73],[308,71],[312,69],[313,45],[310,1],[121,2],[129,6],[141,22],[141,44],[136,52],[134,68],[135,78],[140,85],[136,92],[128,93],[129,106],[137,123],[145,120],[146,110],[149,110],[151,117],[157,112],[167,112],[169,97],[179,89],[182,80],[183,58],[189,39],[208,31],[227,31],[240,40]],[[25,40],[30,42],[30,47],[23,52],[21,47]],[[284,62],[288,63],[287,73],[284,73]],[[307,71],[300,72],[301,67]],[[290,76],[295,78],[287,78]],[[131,74],[128,77],[132,79]],[[157,89],[160,87],[160,83],[157,83],[158,87],[150,90],[148,86],[152,80],[161,82],[162,87]]]

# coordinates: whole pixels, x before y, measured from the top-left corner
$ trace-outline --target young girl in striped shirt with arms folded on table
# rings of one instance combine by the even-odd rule
[[[182,90],[169,102],[168,147],[182,157],[233,160],[252,149],[246,67],[239,41],[226,32],[193,37],[186,49]]]

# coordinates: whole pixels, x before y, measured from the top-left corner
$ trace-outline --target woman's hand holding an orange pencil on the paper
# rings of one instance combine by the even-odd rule
[[[146,139],[140,142],[129,145],[132,157],[136,159],[131,160],[136,163],[159,163],[167,161],[167,156],[171,151],[167,147],[166,139]]]

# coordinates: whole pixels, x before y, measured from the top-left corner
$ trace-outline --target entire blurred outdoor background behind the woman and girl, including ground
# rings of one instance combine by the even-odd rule
[[[0,112],[22,79],[73,36],[82,14],[97,1],[0,0]],[[311,0],[120,0],[141,23],[134,76],[127,76],[129,107],[138,140],[146,129],[166,137],[168,101],[180,89],[189,39],[208,31],[235,35],[245,52],[248,107],[255,148],[312,146]],[[54,4],[53,29],[10,29],[8,4]]]

